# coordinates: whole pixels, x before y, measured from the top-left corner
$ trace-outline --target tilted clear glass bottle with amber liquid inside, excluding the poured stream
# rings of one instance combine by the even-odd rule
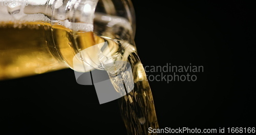
[[[134,44],[130,0],[0,2],[0,80],[71,68],[73,57],[107,36]]]

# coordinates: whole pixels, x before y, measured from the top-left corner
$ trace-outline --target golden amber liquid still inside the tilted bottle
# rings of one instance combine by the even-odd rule
[[[0,22],[0,80],[72,68],[76,49],[94,44],[92,32],[76,32],[74,36],[72,30],[60,25]]]

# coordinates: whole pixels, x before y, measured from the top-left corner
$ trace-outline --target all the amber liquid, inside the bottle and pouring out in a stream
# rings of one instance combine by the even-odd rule
[[[150,134],[148,127],[158,128],[151,88],[136,51],[125,41],[43,22],[0,22],[0,80],[72,69],[79,51],[105,41],[113,59],[130,62],[133,71],[134,89],[119,99],[127,134]],[[97,60],[97,53],[90,56]]]

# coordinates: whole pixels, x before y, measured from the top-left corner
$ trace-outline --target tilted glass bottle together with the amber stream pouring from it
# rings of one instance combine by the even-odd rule
[[[3,0],[0,2],[0,80],[65,68],[83,72],[84,66],[76,68],[74,59],[86,61],[88,71],[90,67],[109,68],[114,87],[118,83],[126,85],[127,80],[134,84],[129,91],[126,85],[122,89],[126,95],[119,98],[127,133],[150,134],[148,128],[157,129],[158,122],[134,35],[135,13],[130,0]],[[132,72],[128,74],[102,64],[109,59],[104,42],[108,43],[110,58],[129,62]],[[96,44],[101,45],[86,52],[88,55],[84,57],[82,51]],[[115,76],[118,73],[123,80]]]

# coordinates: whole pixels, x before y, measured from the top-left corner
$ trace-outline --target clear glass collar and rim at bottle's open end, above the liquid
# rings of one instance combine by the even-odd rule
[[[129,31],[132,38],[135,36],[135,13],[130,0],[81,0],[67,3],[56,0],[47,5],[46,14],[51,14],[51,25],[62,25],[73,31],[92,31],[98,36],[111,36],[101,33],[103,29],[111,29],[113,35],[118,32],[115,30],[123,28]]]

